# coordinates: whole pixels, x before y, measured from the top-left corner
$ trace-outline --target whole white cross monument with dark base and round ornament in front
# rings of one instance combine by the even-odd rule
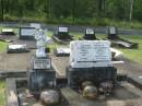
[[[33,57],[32,70],[28,73],[28,87],[35,97],[40,97],[40,101],[45,102],[46,105],[51,105],[57,103],[57,99],[59,101],[59,96],[58,92],[54,90],[56,86],[56,72],[51,67],[51,59],[45,52],[48,39],[46,39],[43,30],[37,30],[35,39],[37,40],[37,50]],[[54,95],[55,93],[57,96]],[[43,95],[45,95],[44,98]]]

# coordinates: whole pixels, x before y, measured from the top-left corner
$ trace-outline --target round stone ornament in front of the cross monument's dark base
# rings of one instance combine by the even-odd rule
[[[47,90],[40,93],[40,102],[46,106],[59,104],[59,97],[58,91],[55,90]]]

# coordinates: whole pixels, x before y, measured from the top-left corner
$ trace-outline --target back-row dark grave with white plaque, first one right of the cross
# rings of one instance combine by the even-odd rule
[[[60,44],[69,44],[71,40],[73,40],[72,36],[69,34],[69,28],[61,26],[59,26],[55,32],[52,39]]]

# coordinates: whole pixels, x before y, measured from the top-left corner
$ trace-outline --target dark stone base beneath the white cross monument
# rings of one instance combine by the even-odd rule
[[[54,70],[31,70],[27,73],[28,89],[35,97],[39,97],[43,90],[56,86],[56,71]]]

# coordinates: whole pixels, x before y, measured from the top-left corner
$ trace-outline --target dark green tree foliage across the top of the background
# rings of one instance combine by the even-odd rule
[[[133,1],[132,9],[130,2]],[[0,20],[4,16],[45,19],[142,20],[142,0],[0,0]]]

